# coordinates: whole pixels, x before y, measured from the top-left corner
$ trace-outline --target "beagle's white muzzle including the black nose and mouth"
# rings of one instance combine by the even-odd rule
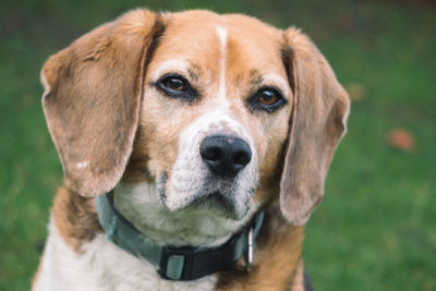
[[[255,148],[235,134],[192,131],[182,138],[169,186],[158,181],[161,201],[171,210],[207,209],[241,219],[257,186]]]

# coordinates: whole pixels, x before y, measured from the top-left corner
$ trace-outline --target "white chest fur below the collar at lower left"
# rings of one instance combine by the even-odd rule
[[[76,253],[50,221],[50,235],[34,291],[214,290],[216,276],[189,282],[162,280],[155,268],[98,234]]]

